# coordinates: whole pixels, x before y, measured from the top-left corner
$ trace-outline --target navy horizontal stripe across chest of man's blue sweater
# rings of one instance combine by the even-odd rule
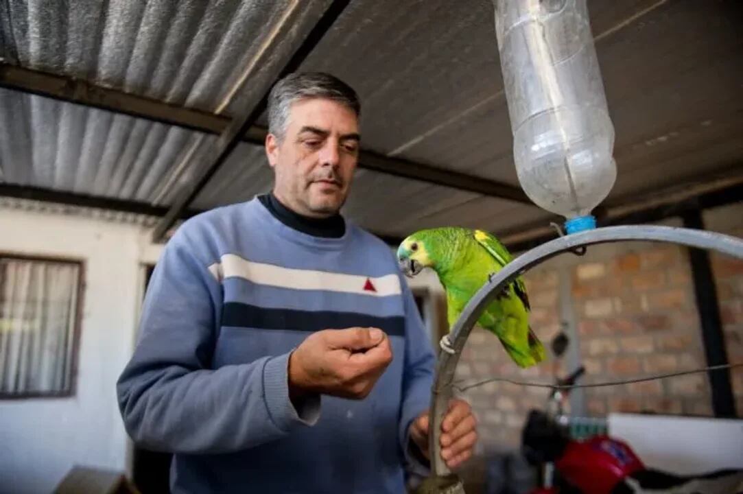
[[[289,329],[307,332],[353,327],[380,328],[389,336],[405,336],[403,316],[380,317],[355,312],[264,308],[241,302],[227,302],[222,306],[221,324],[235,328]]]

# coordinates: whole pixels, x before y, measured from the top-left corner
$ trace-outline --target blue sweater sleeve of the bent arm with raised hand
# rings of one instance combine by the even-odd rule
[[[221,283],[191,246],[184,224],[149,282],[140,336],[117,381],[126,431],[135,443],[175,453],[250,448],[311,426],[319,396],[299,412],[288,394],[288,357],[210,368],[221,313]]]

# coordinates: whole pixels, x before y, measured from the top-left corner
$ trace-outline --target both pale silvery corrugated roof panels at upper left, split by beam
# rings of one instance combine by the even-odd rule
[[[0,53],[28,68],[218,112],[257,100],[327,4],[10,1]],[[270,55],[258,58],[263,51]],[[89,195],[169,204],[195,172],[185,158],[203,155],[215,139],[4,89],[0,108],[5,181]],[[10,125],[18,122],[25,125]]]

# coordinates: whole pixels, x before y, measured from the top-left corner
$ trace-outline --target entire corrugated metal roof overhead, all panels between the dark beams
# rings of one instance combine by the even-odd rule
[[[0,56],[229,114],[257,100],[328,4],[10,0],[0,5]],[[611,197],[740,169],[740,4],[588,7],[617,134]],[[357,89],[366,149],[517,185],[490,0],[351,2],[302,69]],[[203,156],[214,140],[7,90],[0,125],[4,181],[163,205],[195,174],[186,158]],[[262,149],[241,144],[193,205],[244,201],[271,178]],[[359,171],[345,212],[391,234],[436,224],[501,231],[545,218],[537,208],[369,170]]]

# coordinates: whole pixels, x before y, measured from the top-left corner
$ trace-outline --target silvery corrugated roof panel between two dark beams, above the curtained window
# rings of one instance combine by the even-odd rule
[[[4,181],[148,203],[190,146],[215,140],[2,88],[0,129]]]

